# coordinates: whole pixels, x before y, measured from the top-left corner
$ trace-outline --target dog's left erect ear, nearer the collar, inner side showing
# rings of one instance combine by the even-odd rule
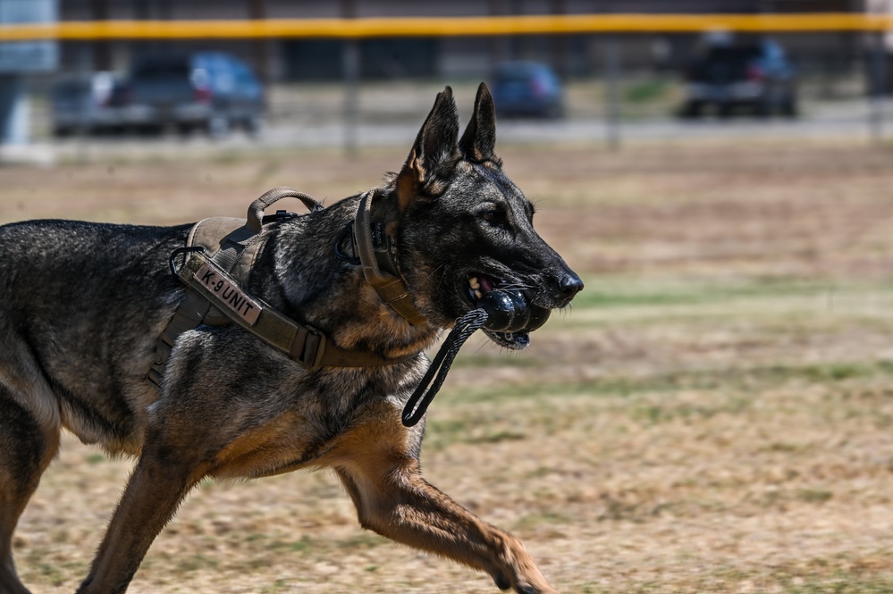
[[[400,210],[419,195],[438,196],[446,188],[459,153],[459,112],[447,87],[437,94],[409,157],[397,174],[397,196]]]

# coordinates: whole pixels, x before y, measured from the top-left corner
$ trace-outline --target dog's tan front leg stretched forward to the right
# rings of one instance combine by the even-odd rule
[[[489,573],[501,590],[555,593],[520,540],[435,489],[417,460],[383,454],[376,463],[337,469],[364,528]]]

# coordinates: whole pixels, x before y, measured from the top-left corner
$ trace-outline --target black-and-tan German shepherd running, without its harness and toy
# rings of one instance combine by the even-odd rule
[[[445,88],[400,172],[375,189],[373,214],[392,233],[394,264],[423,322],[396,314],[339,254],[350,252],[350,238],[337,244],[359,196],[265,226],[245,290],[333,345],[392,364],[307,369],[239,324],[203,324],[176,340],[158,391],[147,370],[186,292],[168,259],[190,225],[0,227],[0,592],[28,592],[13,531],[62,428],[138,458],[82,594],[125,591],[203,478],[325,467],[364,528],[488,573],[502,590],[554,592],[519,540],[422,478],[424,420],[401,423],[427,367],[422,349],[483,293],[511,285],[551,310],[583,287],[535,232],[534,208],[494,145],[486,87],[461,138]],[[488,334],[501,347],[527,346],[524,331]]]

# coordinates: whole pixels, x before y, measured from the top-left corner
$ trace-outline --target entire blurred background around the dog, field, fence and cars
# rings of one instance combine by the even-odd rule
[[[280,185],[331,205],[484,80],[586,289],[521,353],[463,348],[426,479],[562,592],[889,594],[891,11],[0,0],[0,222],[244,216]],[[64,439],[13,541],[34,591],[76,589],[132,466]],[[495,591],[360,531],[327,473],[204,481],[129,591],[187,590]]]

